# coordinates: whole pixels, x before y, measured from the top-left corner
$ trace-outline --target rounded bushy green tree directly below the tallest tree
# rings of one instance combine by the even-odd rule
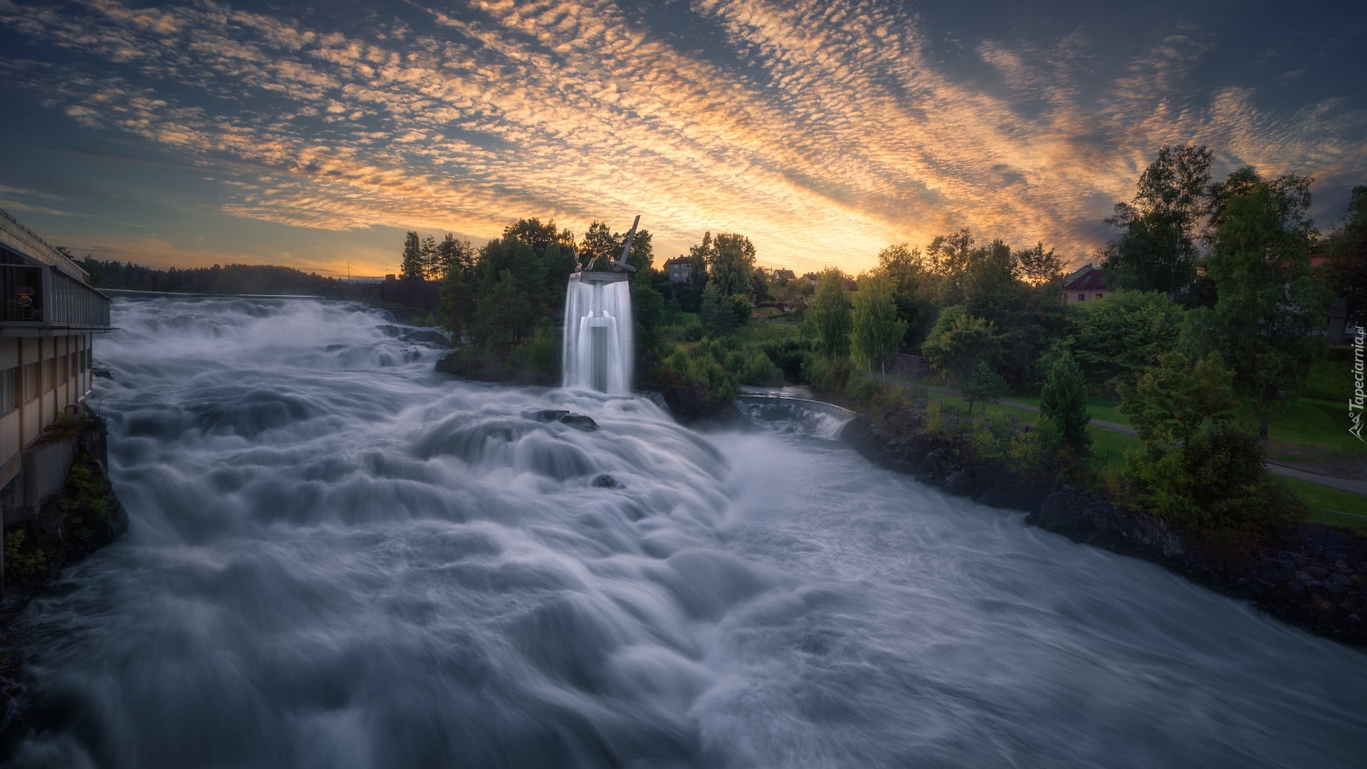
[[[1132,382],[1177,345],[1182,309],[1162,291],[1115,291],[1068,307],[1073,356],[1092,384]]]

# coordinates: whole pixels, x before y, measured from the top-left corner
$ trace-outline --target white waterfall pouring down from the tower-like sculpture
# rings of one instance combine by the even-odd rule
[[[632,391],[632,291],[621,272],[576,272],[565,297],[565,386]]]

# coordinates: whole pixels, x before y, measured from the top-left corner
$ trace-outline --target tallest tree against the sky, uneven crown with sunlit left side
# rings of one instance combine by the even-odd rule
[[[1197,229],[1208,209],[1213,153],[1206,146],[1169,146],[1139,177],[1131,203],[1117,203],[1106,220],[1120,237],[1103,250],[1113,289],[1165,291],[1177,298],[1196,278]]]

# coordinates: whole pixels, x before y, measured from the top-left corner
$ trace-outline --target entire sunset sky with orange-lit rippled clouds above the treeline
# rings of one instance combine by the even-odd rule
[[[636,213],[857,272],[972,227],[1070,264],[1165,142],[1367,183],[1363,3],[0,0],[0,208],[153,265],[394,272],[403,231]]]

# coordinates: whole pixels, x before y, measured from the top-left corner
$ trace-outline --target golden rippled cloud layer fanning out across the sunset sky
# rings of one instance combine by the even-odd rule
[[[802,270],[961,226],[1085,259],[1163,142],[1367,177],[1360,104],[1269,111],[1249,88],[1207,89],[1192,73],[1208,36],[1174,30],[1099,85],[1085,30],[979,40],[986,88],[899,5],[674,4],[701,45],[638,11],[398,4],[342,22],[0,0],[31,44],[0,71],[82,126],[213,168],[236,218],[492,237],[517,216],[582,231],[647,212],[662,252],[735,230]]]

